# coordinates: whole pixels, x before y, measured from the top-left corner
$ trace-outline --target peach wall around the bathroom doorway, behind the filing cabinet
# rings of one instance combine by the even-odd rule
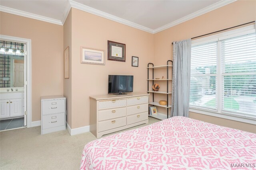
[[[63,26],[1,12],[0,31],[31,39],[32,121],[40,121],[40,96],[63,95]]]

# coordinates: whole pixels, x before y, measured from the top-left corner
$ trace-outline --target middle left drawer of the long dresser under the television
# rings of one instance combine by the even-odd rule
[[[100,110],[98,115],[98,121],[114,119],[123,116],[126,116],[126,107]]]

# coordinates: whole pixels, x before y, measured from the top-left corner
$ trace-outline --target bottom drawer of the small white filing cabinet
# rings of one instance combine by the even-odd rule
[[[43,115],[42,129],[65,125],[65,113]]]

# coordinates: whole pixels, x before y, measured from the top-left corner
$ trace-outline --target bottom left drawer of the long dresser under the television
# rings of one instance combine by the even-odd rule
[[[126,125],[126,117],[100,121],[98,122],[98,132],[107,131],[109,129],[114,129],[114,128],[122,127],[125,125]]]

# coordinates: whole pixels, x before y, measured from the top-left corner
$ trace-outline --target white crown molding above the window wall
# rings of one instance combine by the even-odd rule
[[[199,10],[199,11],[194,12],[194,13],[192,13],[192,14],[189,14],[189,15],[187,15],[187,16],[185,16],[185,17],[182,17],[182,18],[180,18],[180,19],[178,19],[178,20],[176,20],[176,21],[173,21],[173,22],[171,22],[171,23],[168,23],[168,24],[166,24],[166,25],[164,25],[164,26],[162,26],[162,27],[159,27],[159,28],[157,28],[157,29],[154,29],[153,34],[158,33],[158,32],[160,32],[160,31],[164,31],[165,29],[168,29],[168,28],[170,28],[170,27],[173,27],[173,26],[175,26],[175,25],[178,25],[178,24],[180,24],[180,23],[182,23],[182,22],[191,20],[191,19],[196,18],[196,17],[198,17],[198,16],[200,16],[200,15],[202,15],[202,14],[205,14],[205,13],[210,12],[210,11],[212,11],[212,10],[216,10],[217,8],[220,8],[220,7],[222,7],[222,6],[225,6],[225,5],[230,4],[230,3],[232,3],[232,2],[235,2],[235,1],[236,1],[236,0],[222,0],[222,1],[220,1],[220,2],[217,2],[217,3],[215,3],[215,4],[212,4],[212,5],[210,5],[210,6],[206,7],[206,8],[203,8],[202,10]]]

